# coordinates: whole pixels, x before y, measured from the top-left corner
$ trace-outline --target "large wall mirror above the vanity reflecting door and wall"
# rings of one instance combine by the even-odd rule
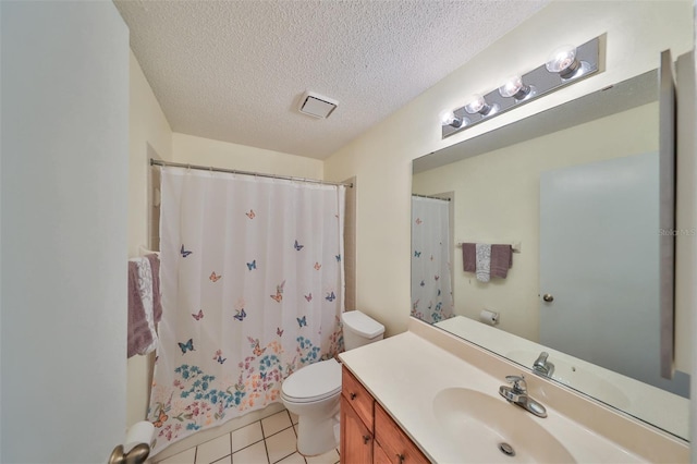
[[[444,241],[452,280],[441,268],[443,288],[420,292],[437,273],[417,270],[424,245],[413,239],[412,313],[527,368],[547,352],[553,380],[687,439],[689,377],[660,377],[657,76],[414,160],[413,193],[450,198],[431,246]],[[485,282],[466,267],[472,249],[513,243],[505,278]],[[433,317],[448,286],[453,317]]]

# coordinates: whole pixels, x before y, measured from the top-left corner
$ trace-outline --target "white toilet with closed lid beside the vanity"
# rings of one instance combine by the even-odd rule
[[[384,326],[352,310],[341,315],[344,347],[353,350],[382,340]],[[306,456],[323,454],[339,445],[341,364],[331,358],[291,374],[281,386],[281,400],[297,415],[297,451]]]

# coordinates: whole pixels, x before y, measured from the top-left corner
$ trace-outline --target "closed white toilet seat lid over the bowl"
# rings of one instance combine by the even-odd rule
[[[283,395],[297,403],[319,401],[340,391],[341,364],[333,357],[296,370],[281,386]]]

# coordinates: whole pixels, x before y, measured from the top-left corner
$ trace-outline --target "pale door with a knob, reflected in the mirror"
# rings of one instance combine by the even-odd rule
[[[660,375],[658,180],[657,152],[540,176],[540,343],[649,383]]]

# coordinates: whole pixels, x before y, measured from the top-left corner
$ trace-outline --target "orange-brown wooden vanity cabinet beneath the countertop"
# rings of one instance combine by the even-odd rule
[[[342,371],[340,447],[344,464],[429,462],[345,367]]]

